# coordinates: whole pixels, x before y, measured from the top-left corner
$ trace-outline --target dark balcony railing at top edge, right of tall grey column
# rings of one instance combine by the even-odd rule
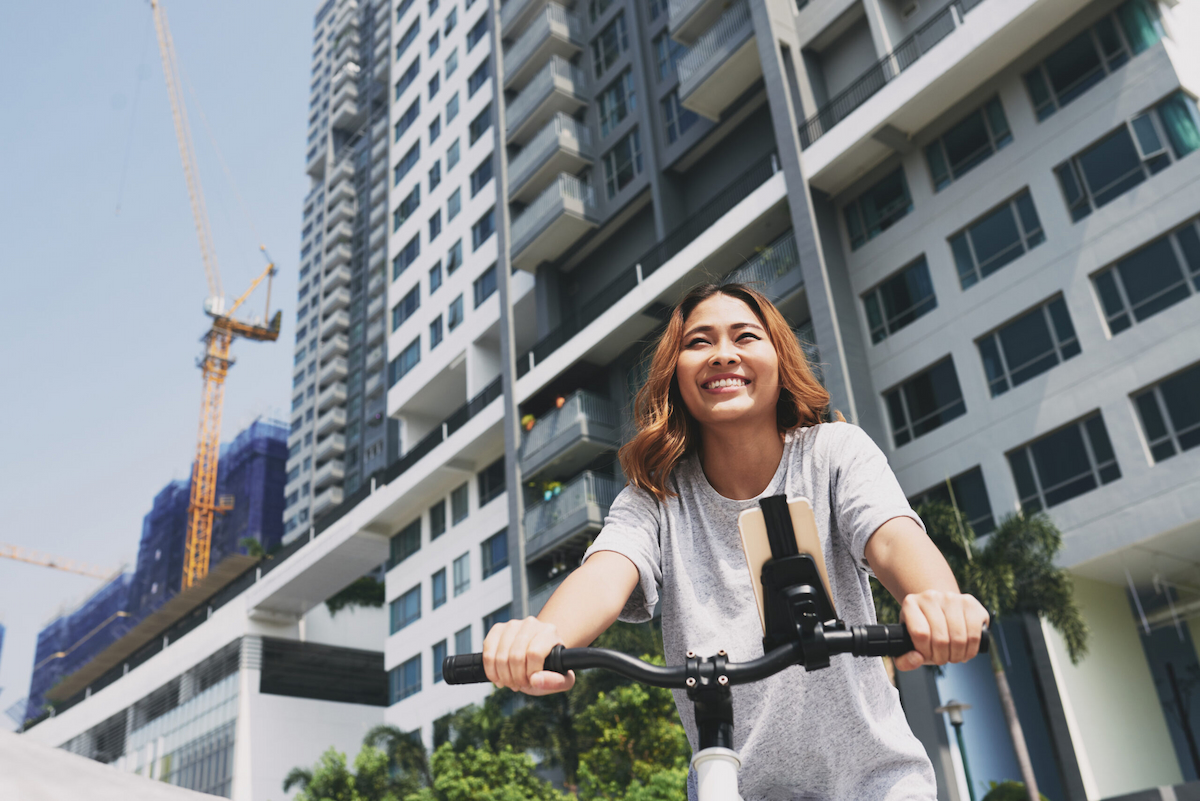
[[[954,0],[930,17],[912,36],[800,125],[800,147],[808,147],[827,134],[901,72],[914,65],[920,56],[929,53],[930,48],[953,34],[954,29],[962,24],[962,17],[980,2],[983,0]]]

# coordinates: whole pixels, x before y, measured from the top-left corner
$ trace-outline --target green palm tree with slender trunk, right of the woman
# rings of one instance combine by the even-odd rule
[[[953,493],[950,498],[953,500]],[[992,630],[1004,618],[1037,615],[1062,636],[1072,664],[1086,656],[1087,624],[1075,603],[1070,574],[1055,565],[1055,556],[1062,550],[1062,534],[1048,516],[1010,514],[980,546],[956,506],[924,504],[918,513],[934,544],[954,571],[960,589],[992,610]],[[875,598],[881,619],[894,621],[899,618],[899,607],[887,591],[875,592]],[[1038,801],[1033,763],[1016,717],[1008,675],[998,649],[992,649],[990,656],[1025,790],[1030,801]]]

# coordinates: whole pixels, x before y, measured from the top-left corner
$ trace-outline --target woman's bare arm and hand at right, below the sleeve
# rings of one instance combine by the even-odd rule
[[[900,670],[966,662],[979,652],[988,612],[959,592],[946,558],[908,517],[894,517],[866,541],[866,562],[900,603],[900,620],[917,649],[895,661]]]

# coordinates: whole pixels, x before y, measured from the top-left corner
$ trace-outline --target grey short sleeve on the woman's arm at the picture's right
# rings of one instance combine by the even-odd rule
[[[925,524],[900,489],[888,466],[888,457],[866,432],[850,423],[827,423],[838,430],[829,442],[829,482],[833,516],[838,532],[850,553],[868,573],[866,542],[881,525],[894,517],[908,517],[922,529]],[[822,426],[823,428],[824,426]]]

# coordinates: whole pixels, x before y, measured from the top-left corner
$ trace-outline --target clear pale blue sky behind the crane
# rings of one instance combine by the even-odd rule
[[[316,4],[166,8],[226,293],[262,272],[259,245],[280,269],[278,342],[234,343],[229,440],[288,411]],[[150,6],[13,4],[0,43],[0,543],[132,566],[155,494],[190,471],[208,330]],[[248,306],[264,302],[259,289]],[[98,585],[0,559],[0,728],[37,631]]]

